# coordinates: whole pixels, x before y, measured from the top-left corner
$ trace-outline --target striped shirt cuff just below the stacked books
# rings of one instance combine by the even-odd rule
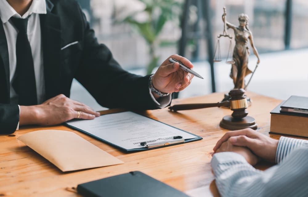
[[[276,151],[276,163],[279,164],[294,149],[307,145],[307,140],[281,136]]]

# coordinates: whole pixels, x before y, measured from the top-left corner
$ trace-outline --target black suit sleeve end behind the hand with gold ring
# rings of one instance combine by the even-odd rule
[[[0,104],[0,134],[14,133],[19,122],[17,104]]]

